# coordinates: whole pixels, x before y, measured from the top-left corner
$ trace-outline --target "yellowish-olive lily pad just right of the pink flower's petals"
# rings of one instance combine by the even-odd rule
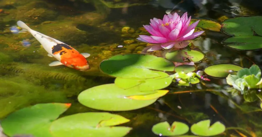
[[[220,31],[221,25],[215,21],[208,20],[208,19],[191,19],[190,24],[199,21],[198,25],[196,27],[208,29],[212,31]]]

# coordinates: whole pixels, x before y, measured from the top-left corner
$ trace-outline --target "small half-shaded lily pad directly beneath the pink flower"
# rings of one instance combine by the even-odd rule
[[[173,50],[167,52],[165,57],[173,62],[185,62],[184,59],[189,59],[193,62],[200,62],[205,58],[205,54],[196,50]]]

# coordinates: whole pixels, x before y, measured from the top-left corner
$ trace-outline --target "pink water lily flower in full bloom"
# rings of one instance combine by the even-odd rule
[[[151,36],[139,35],[137,38],[140,41],[153,43],[147,51],[160,50],[162,48],[168,50],[172,47],[184,48],[189,42],[201,35],[204,31],[194,32],[199,20],[189,25],[191,16],[187,17],[187,12],[180,16],[177,13],[164,15],[161,19],[150,19],[150,25],[143,25]]]

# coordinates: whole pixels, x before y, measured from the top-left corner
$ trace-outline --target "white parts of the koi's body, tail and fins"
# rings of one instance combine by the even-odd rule
[[[56,40],[54,38],[51,38],[49,36],[46,36],[40,32],[37,32],[35,30],[32,30],[29,28],[29,26],[27,26],[23,21],[17,21],[17,25],[22,28],[23,30],[21,32],[25,32],[28,31],[30,32],[43,46],[43,48],[48,52],[48,56],[49,57],[54,57],[56,58],[59,62],[55,61],[49,64],[49,66],[55,66],[55,65],[62,65],[61,61],[61,56],[60,54],[53,54],[52,53],[52,48],[53,46],[57,45],[57,44],[65,44],[59,40]],[[85,58],[89,57],[90,54],[89,53],[81,53]]]

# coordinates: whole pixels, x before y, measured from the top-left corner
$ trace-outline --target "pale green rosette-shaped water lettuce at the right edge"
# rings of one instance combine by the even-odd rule
[[[260,68],[257,65],[252,65],[249,69],[239,70],[236,75],[229,74],[226,81],[228,85],[244,94],[245,89],[259,89],[261,87],[262,79],[260,76]]]

